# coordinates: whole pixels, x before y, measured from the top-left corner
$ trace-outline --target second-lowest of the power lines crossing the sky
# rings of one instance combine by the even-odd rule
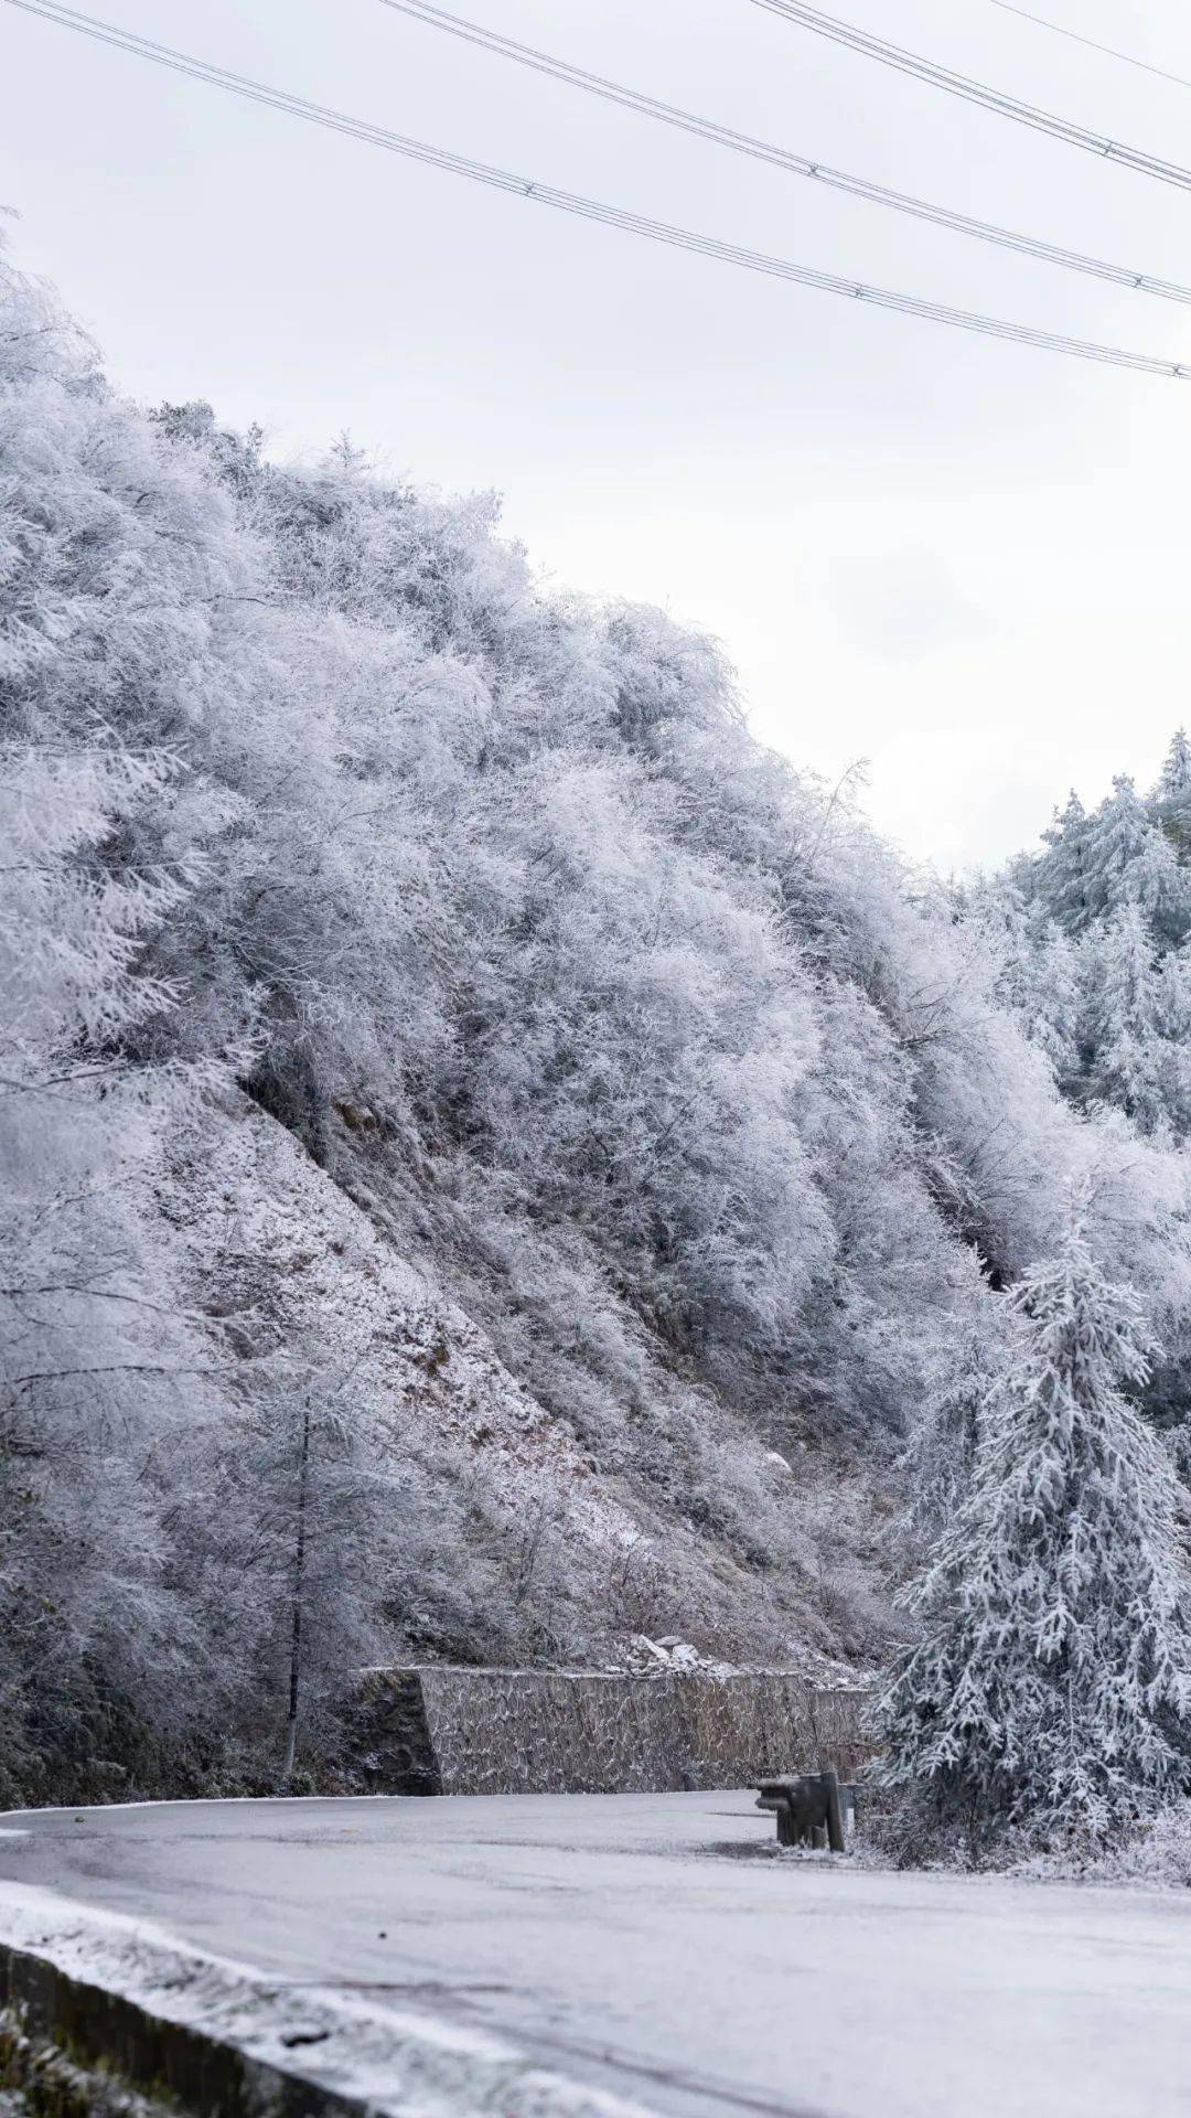
[[[1024,256],[1043,258],[1047,265],[1064,265],[1068,271],[1081,271],[1096,280],[1108,280],[1113,286],[1140,288],[1146,294],[1159,294],[1163,301],[1191,301],[1191,288],[1178,286],[1174,280],[1155,280],[1151,273],[1134,271],[1127,265],[1108,265],[1104,258],[1085,256],[1083,252],[1068,250],[1062,244],[1047,244],[1041,237],[1019,235],[1013,229],[1000,229],[988,220],[973,220],[968,214],[952,212],[947,205],[930,205],[926,199],[913,199],[903,191],[888,191],[884,184],[873,184],[863,176],[850,176],[846,169],[831,169],[822,161],[812,161],[810,155],[797,155],[793,148],[774,146],[769,140],[754,140],[750,133],[733,131],[729,125],[718,125],[714,119],[695,116],[695,112],[680,110],[676,104],[663,104],[655,95],[642,95],[638,89],[627,89],[617,80],[606,80],[602,74],[589,74],[585,68],[570,66],[566,59],[555,59],[545,51],[536,51],[532,44],[517,44],[511,36],[500,36],[496,30],[485,30],[481,23],[466,21],[462,15],[449,15],[447,8],[432,6],[430,0],[381,0],[381,6],[388,6],[398,15],[409,15],[413,21],[422,21],[430,30],[447,30],[466,44],[479,44],[481,51],[492,51],[502,59],[515,59],[517,66],[530,66],[534,72],[549,74],[553,80],[566,80],[568,87],[585,89],[589,95],[602,95],[604,102],[621,104],[625,110],[638,110],[646,119],[659,119],[663,125],[674,125],[680,131],[695,133],[699,140],[712,140],[714,146],[733,148],[737,155],[750,155],[754,161],[774,163],[778,169],[790,169],[795,176],[810,176],[820,184],[829,184],[833,191],[846,191],[850,197],[869,199],[875,205],[890,205],[894,212],[913,214],[918,220],[930,220],[937,227],[954,229],[958,235],[975,235],[985,244],[998,244],[1005,250],[1017,250]]]

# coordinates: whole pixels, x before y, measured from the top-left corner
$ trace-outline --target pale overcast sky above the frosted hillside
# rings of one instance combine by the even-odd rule
[[[570,64],[958,212],[1191,282],[1191,195],[754,0],[456,0]],[[1021,0],[1191,80],[1185,0]],[[1191,161],[1191,87],[996,0],[831,11]],[[526,178],[824,271],[1191,360],[1191,309],[829,193],[381,0],[95,0],[123,28]],[[0,201],[121,390],[278,460],[343,430],[498,489],[547,580],[714,633],[754,733],[913,858],[992,864],[1187,716],[1191,381],[1028,352],[483,191],[0,0]]]

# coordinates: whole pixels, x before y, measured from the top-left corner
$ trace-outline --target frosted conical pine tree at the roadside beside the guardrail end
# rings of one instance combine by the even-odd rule
[[[1096,1843],[1191,1779],[1191,1584],[1168,1453],[1125,1392],[1151,1343],[1083,1205],[1013,1296],[973,1489],[907,1595],[884,1777],[973,1849]]]

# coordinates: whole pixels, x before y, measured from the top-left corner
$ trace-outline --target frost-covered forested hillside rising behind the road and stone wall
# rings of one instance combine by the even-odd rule
[[[271,1785],[297,1605],[320,1783],[367,1661],[879,1656],[1072,1192],[1183,1421],[1185,746],[943,885],[492,498],[13,271],[0,392],[0,1798]]]

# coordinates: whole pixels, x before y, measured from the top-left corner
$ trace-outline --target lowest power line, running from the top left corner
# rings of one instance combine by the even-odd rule
[[[648,241],[668,244],[674,250],[689,250],[695,256],[718,258],[725,265],[737,265],[744,271],[788,280],[795,286],[812,286],[826,294],[843,294],[850,301],[865,301],[879,309],[894,309],[901,316],[920,316],[935,324],[949,324],[956,330],[975,330],[990,339],[1009,339],[1017,345],[1032,345],[1051,354],[1068,354],[1077,360],[1098,360],[1117,369],[1134,369],[1142,375],[1170,375],[1180,381],[1191,379],[1191,362],[1161,360],[1155,354],[1132,354],[1117,345],[1070,339],[1057,330],[1038,330],[1032,324],[1015,324],[998,316],[981,316],[975,309],[954,309],[947,303],[928,301],[918,294],[899,294],[892,288],[867,286],[863,280],[846,280],[839,273],[818,271],[812,265],[795,265],[790,258],[774,258],[761,250],[746,250],[740,244],[721,241],[716,235],[699,235],[693,229],[678,229],[665,220],[648,220],[644,214],[634,214],[621,205],[604,205],[600,199],[585,199],[579,193],[557,191],[553,184],[538,184],[530,178],[515,176],[509,169],[496,169],[490,163],[470,161],[466,155],[454,155],[449,148],[432,146],[424,140],[409,140],[403,133],[386,131],[386,127],[371,125],[365,119],[352,119],[341,110],[326,108],[324,104],[312,104],[303,95],[290,95],[286,89],[271,89],[261,80],[233,74],[229,68],[195,59],[184,51],[174,51],[170,44],[155,44],[150,38],[136,36],[131,30],[119,30],[112,23],[97,21],[93,15],[59,6],[55,0],[6,0],[6,4],[21,8],[25,15],[40,15],[45,21],[53,21],[64,30],[76,30],[81,36],[89,36],[95,42],[114,44],[117,51],[129,51],[138,59],[150,59],[155,66],[165,66],[176,74],[186,74],[191,80],[203,80],[210,87],[227,89],[231,95],[242,95],[248,102],[267,106],[269,110],[284,110],[288,116],[305,119],[307,123],[322,125],[328,131],[345,133],[352,140],[365,140],[369,146],[381,146],[392,155],[407,155],[411,161],[424,161],[437,169],[449,169],[454,176],[466,176],[477,184],[490,184],[496,191],[506,191],[521,199],[534,199],[538,205],[553,205],[564,214],[579,216],[581,220],[596,220],[602,227],[621,229],[629,235],[644,235]]]

